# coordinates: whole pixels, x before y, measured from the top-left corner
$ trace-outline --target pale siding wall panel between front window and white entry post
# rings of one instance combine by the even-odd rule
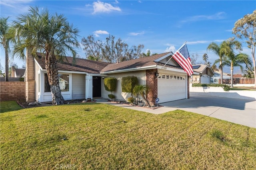
[[[85,74],[72,74],[72,99],[85,98]]]

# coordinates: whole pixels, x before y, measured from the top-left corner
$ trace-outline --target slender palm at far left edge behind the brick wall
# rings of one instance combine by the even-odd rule
[[[10,39],[8,38],[8,31],[10,29],[10,25],[8,24],[8,17],[7,18],[0,18],[0,44],[1,47],[4,49],[5,53],[5,81],[9,81],[9,53],[10,53],[10,46],[9,42]]]

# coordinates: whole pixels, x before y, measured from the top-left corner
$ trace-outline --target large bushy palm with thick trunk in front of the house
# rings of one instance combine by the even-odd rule
[[[79,47],[78,29],[69,24],[63,15],[49,14],[47,9],[30,7],[28,12],[18,16],[11,33],[14,54],[24,59],[24,49],[34,57],[36,52],[44,53],[45,68],[52,93],[52,104],[64,104],[61,95],[57,61],[63,61],[68,52],[76,57],[74,47]]]

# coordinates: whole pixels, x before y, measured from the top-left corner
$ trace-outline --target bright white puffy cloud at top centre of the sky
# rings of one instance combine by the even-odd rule
[[[111,4],[105,3],[105,2],[93,2],[93,13],[92,14],[96,14],[96,13],[109,13],[112,11],[121,11],[121,9],[116,6],[112,6]]]

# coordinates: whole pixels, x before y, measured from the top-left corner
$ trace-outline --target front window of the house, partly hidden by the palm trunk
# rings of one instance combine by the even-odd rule
[[[60,90],[62,92],[69,91],[69,74],[58,74]],[[48,76],[44,74],[44,92],[51,92],[50,84],[48,82]]]

